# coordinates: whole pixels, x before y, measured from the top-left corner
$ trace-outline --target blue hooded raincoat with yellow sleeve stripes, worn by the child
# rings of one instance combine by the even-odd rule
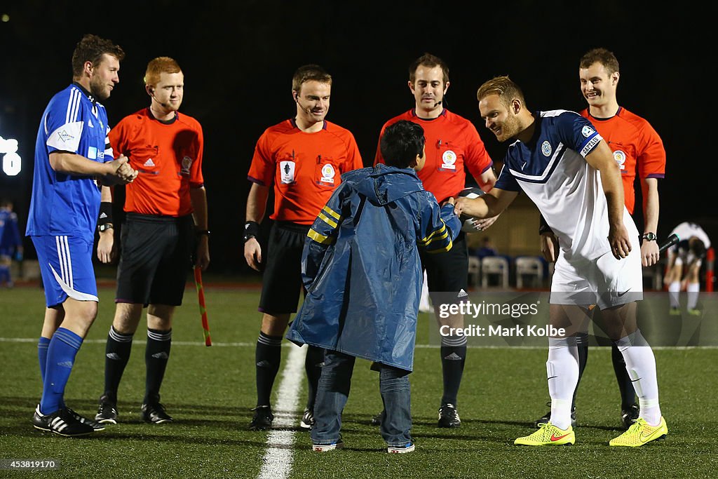
[[[342,175],[302,254],[307,297],[287,338],[412,371],[421,297],[419,248],[448,251],[461,228],[413,169]]]

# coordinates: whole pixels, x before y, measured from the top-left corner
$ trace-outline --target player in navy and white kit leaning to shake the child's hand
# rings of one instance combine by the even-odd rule
[[[519,190],[528,195],[559,238],[551,282],[549,321],[565,334],[549,338],[546,372],[551,419],[516,445],[573,444],[571,403],[578,381],[576,335],[585,332],[587,307],[597,304],[605,332],[623,355],[635,385],[640,416],[611,446],[636,447],[668,433],[658,404],[653,351],[638,330],[643,299],[638,230],[623,201],[623,185],[610,148],[586,118],[571,111],[531,113],[521,89],[497,77],[477,92],[486,127],[499,141],[514,139],[493,190],[459,198],[457,213],[487,218],[501,213]]]

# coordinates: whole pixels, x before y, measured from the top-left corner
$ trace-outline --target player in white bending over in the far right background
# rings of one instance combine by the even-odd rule
[[[696,223],[686,221],[673,228],[671,234],[681,238],[678,244],[668,250],[668,271],[663,282],[668,285],[668,300],[671,315],[681,314],[679,294],[682,289],[688,293],[686,310],[689,315],[699,316],[698,294],[701,291],[699,273],[706,251],[711,247],[707,233]]]

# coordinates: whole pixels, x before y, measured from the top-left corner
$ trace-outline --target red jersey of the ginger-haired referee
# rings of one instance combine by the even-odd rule
[[[125,211],[143,215],[192,213],[190,187],[202,186],[202,126],[177,112],[167,123],[149,108],[133,113],[110,130],[113,151],[139,171],[125,187]]]

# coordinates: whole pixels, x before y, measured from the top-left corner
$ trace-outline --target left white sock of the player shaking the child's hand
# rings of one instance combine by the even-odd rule
[[[546,361],[551,395],[551,424],[559,429],[571,426],[571,403],[579,381],[579,352],[576,338],[549,338]]]

